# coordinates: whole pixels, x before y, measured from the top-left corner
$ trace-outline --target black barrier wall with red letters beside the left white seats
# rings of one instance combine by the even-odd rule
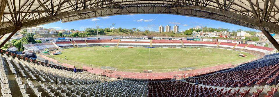
[[[27,58],[27,57],[24,57],[24,56],[21,56],[21,55],[17,55],[15,53],[11,53],[9,51],[5,51],[3,49],[0,49],[0,53],[1,54],[6,54],[8,56],[12,56],[14,58],[18,58],[18,59],[22,59],[22,60],[25,60],[27,62],[31,62],[31,63],[34,63],[34,64],[38,64],[38,65],[43,65],[43,66],[47,66],[47,67],[51,67],[51,68],[56,68],[56,69],[64,69],[64,70],[68,70],[68,71],[74,71],[73,68],[69,68],[69,67],[62,67],[62,66],[57,66],[57,65],[53,65],[53,64],[49,64],[49,63],[45,63],[45,62],[41,62],[41,61],[37,61],[37,60],[33,60],[33,59],[30,59],[30,58]],[[87,71],[87,69],[79,69],[77,68],[76,71]]]

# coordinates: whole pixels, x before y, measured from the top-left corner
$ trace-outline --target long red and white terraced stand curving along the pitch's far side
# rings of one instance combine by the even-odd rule
[[[73,43],[73,44],[72,44]],[[227,43],[227,42],[201,42],[201,41],[187,41],[187,40],[147,40],[147,39],[111,39],[111,40],[75,40],[71,42],[55,42],[59,48],[74,48],[74,47],[87,47],[87,46],[136,46],[136,47],[209,47],[209,48],[221,48],[229,49],[234,51],[248,52],[254,55],[262,56],[267,55],[274,48],[267,48],[261,46]],[[219,44],[220,43],[220,44]],[[55,50],[57,47],[52,43],[41,43],[41,44],[27,44],[24,45],[26,49],[34,49],[35,52],[41,51],[44,48],[49,50]],[[75,45],[75,46],[74,46]],[[184,45],[184,46],[183,46]],[[247,47],[245,47],[247,46]]]

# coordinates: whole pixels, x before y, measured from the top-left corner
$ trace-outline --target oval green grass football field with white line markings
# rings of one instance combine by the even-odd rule
[[[118,70],[169,70],[174,71],[183,67],[212,67],[226,63],[240,63],[257,58],[247,55],[246,58],[230,50],[210,48],[212,52],[205,52],[207,48],[117,48],[117,47],[84,47],[62,49],[60,55],[47,55],[50,58],[82,67],[110,66]],[[240,52],[238,52],[240,53]],[[65,60],[65,56],[67,60]]]

